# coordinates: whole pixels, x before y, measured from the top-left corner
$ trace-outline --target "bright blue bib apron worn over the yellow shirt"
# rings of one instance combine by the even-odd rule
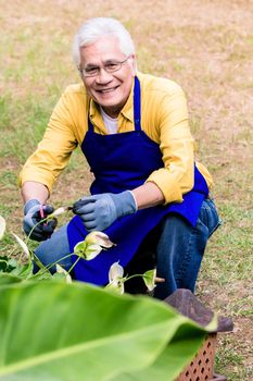
[[[101,135],[93,131],[88,116],[88,132],[81,144],[81,150],[94,174],[90,193],[121,193],[142,185],[149,175],[164,167],[159,144],[141,130],[140,83],[135,77],[134,119],[135,131]],[[208,188],[202,174],[194,165],[194,186],[184,195],[181,204],[156,206],[138,210],[125,216],[104,230],[116,246],[101,251],[90,261],[80,259],[75,266],[75,276],[79,281],[104,285],[109,282],[109,270],[113,262],[125,267],[134,257],[147,234],[169,212],[184,216],[195,225],[202,201],[208,195]],[[71,253],[75,245],[84,241],[88,232],[79,218],[74,217],[67,228]],[[73,262],[77,259],[73,256]]]

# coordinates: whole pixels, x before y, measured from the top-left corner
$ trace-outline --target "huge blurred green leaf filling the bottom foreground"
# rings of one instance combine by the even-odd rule
[[[174,380],[206,334],[165,304],[83,283],[0,288],[0,380]]]

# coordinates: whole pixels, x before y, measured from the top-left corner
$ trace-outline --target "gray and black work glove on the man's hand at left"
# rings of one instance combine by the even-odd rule
[[[26,235],[29,235],[33,228],[53,212],[51,205],[41,205],[37,199],[31,199],[25,204],[23,229]],[[31,232],[30,238],[34,241],[45,241],[49,238],[58,224],[56,219],[43,221],[38,224]]]

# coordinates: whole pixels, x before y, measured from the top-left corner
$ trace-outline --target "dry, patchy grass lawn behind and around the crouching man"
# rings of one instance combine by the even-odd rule
[[[99,15],[118,17],[129,28],[139,70],[170,77],[187,94],[198,159],[214,176],[223,220],[210,239],[197,293],[235,321],[235,332],[220,335],[216,370],[228,380],[251,380],[253,4],[96,0],[91,8],[78,1],[0,0],[0,213],[9,233],[21,234],[17,173],[61,93],[78,81],[71,58],[74,33],[84,19]],[[71,204],[88,193],[90,181],[87,163],[75,152],[52,202]],[[11,235],[4,239],[11,253]]]

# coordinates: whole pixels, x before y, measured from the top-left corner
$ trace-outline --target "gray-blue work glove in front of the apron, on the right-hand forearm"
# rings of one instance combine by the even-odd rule
[[[118,218],[136,211],[136,200],[130,190],[83,197],[73,205],[73,212],[81,218],[88,232],[103,231]]]

